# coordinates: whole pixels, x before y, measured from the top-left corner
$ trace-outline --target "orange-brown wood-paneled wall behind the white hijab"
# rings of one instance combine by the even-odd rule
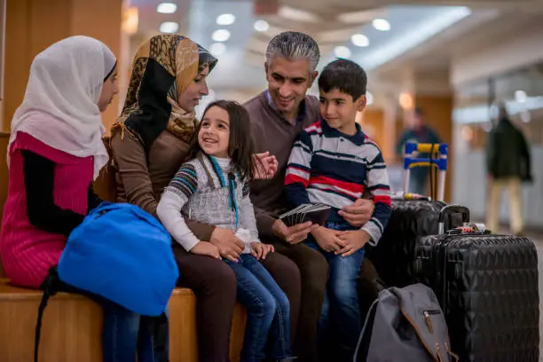
[[[20,106],[32,59],[52,43],[88,35],[122,54],[122,0],[13,0],[6,6],[3,130]],[[122,62],[119,62],[122,64]],[[108,128],[118,114],[116,98],[103,114]]]

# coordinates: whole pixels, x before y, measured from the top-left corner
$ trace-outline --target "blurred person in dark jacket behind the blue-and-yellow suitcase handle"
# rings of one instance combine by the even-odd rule
[[[442,140],[426,122],[424,112],[421,108],[413,109],[413,112],[407,117],[407,128],[404,130],[397,142],[396,153],[400,160],[404,159],[404,148],[408,142],[415,143],[441,143]],[[417,157],[427,158],[428,153],[419,153]],[[428,193],[428,167],[416,167],[411,169],[411,178],[409,180],[409,191],[411,193]]]

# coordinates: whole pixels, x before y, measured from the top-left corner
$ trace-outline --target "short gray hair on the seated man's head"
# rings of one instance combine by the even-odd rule
[[[286,31],[275,35],[268,43],[268,49],[266,49],[268,64],[271,64],[271,60],[276,56],[286,59],[308,59],[312,72],[319,64],[319,45],[310,35],[297,31]]]

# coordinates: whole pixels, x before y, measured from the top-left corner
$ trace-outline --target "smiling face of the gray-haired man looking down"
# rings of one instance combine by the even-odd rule
[[[279,112],[293,114],[318,75],[311,72],[309,59],[275,57],[265,64],[268,90]]]

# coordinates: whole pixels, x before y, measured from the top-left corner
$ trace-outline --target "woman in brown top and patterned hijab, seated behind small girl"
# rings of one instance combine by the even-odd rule
[[[133,203],[156,216],[161,193],[185,161],[195,136],[194,107],[208,95],[206,78],[216,61],[199,44],[180,35],[153,36],[140,46],[122,114],[112,128],[117,201]],[[264,168],[270,171],[264,177],[277,169],[274,157],[268,161],[271,168]],[[236,256],[243,250],[232,231],[185,221],[200,240],[215,244],[221,256]],[[196,295],[198,359],[226,362],[236,301],[233,272],[219,259],[188,253],[178,244],[172,248],[180,271],[177,285],[191,288]],[[285,256],[271,258],[277,259],[278,270],[288,274],[285,279],[294,280],[291,289],[299,295],[299,271],[292,270],[295,265],[287,264]],[[178,344],[171,343],[173,353]]]

